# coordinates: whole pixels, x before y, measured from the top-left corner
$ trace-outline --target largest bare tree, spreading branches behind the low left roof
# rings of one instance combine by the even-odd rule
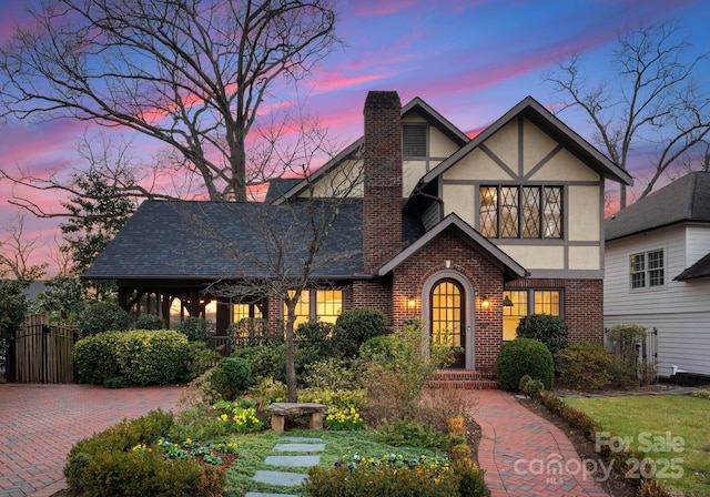
[[[210,199],[244,201],[263,105],[339,44],[331,3],[44,0],[0,49],[0,113],[138,131]]]

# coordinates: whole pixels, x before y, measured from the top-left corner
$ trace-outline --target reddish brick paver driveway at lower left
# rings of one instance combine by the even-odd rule
[[[0,385],[0,497],[47,497],[64,488],[79,439],[149,410],[174,409],[184,387]]]

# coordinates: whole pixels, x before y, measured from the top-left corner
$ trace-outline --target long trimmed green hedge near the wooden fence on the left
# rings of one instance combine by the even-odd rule
[[[201,374],[192,365],[195,352],[171,329],[106,332],[77,342],[74,364],[82,383],[120,377],[130,385],[160,385]]]

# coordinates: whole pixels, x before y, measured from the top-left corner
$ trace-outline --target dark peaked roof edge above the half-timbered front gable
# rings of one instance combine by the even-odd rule
[[[633,179],[626,171],[616,165],[606,155],[604,155],[596,148],[589,144],[585,139],[572,131],[567,124],[560,121],[555,114],[545,109],[545,106],[542,106],[532,97],[526,97],[525,99],[523,99],[505,115],[503,115],[496,122],[486,128],[476,138],[469,141],[468,144],[457,150],[448,159],[429,171],[420,180],[419,184],[428,184],[439,178],[449,168],[456,164],[462,158],[466,156],[474,149],[479,146],[518,115],[524,115],[525,118],[529,119],[537,126],[556,139],[559,143],[564,144],[568,151],[577,155],[584,163],[592,168],[604,178],[628,185],[633,184]]]

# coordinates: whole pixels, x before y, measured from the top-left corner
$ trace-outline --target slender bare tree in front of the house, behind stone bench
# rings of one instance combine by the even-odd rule
[[[274,146],[272,160],[282,163],[290,176],[303,179],[297,199],[276,204],[224,203],[239,220],[240,241],[226,235],[214,216],[201,215],[186,220],[197,243],[212,243],[234,261],[234,272],[213,283],[207,293],[229,297],[233,302],[254,302],[276,297],[284,303],[284,337],[286,343],[286,386],[290,402],[297,399],[294,323],[301,294],[314,287],[329,288],[336,283],[322,274],[334,264],[347,265],[361,253],[362,204],[353,199],[362,184],[362,168],[356,163],[359,150],[341,169],[318,175],[311,164],[332,158],[335,150],[324,129],[311,119],[302,119],[297,140],[287,148]],[[361,221],[358,221],[361,220]],[[244,235],[246,233],[246,235]],[[337,233],[343,243],[334,243]]]

